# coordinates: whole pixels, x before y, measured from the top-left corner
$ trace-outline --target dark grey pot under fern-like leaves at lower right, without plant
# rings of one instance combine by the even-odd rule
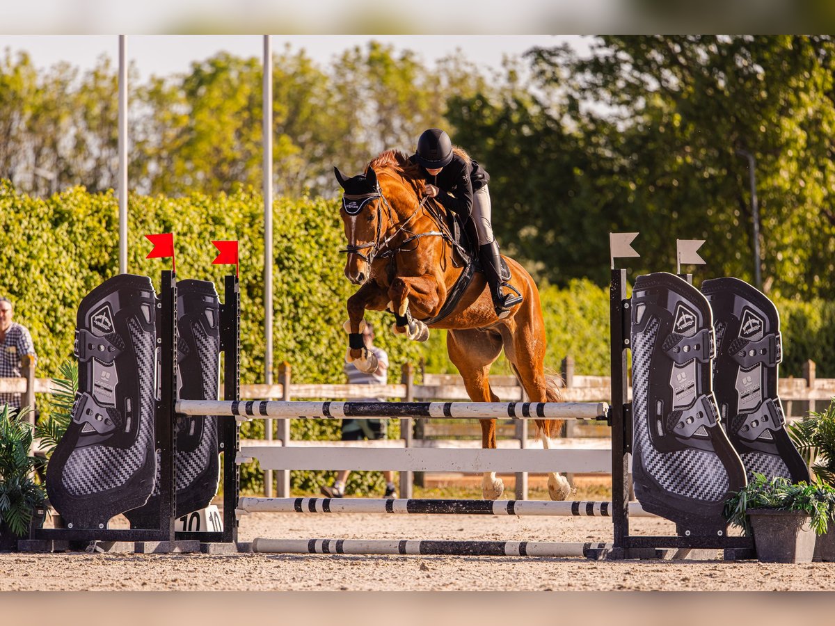
[[[815,531],[800,511],[755,508],[747,511],[754,531],[757,560],[763,563],[812,563]]]

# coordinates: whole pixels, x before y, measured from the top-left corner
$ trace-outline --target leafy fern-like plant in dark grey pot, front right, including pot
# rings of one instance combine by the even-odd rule
[[[725,518],[753,535],[757,559],[767,563],[811,563],[817,535],[835,517],[835,489],[792,483],[755,473],[725,505]]]

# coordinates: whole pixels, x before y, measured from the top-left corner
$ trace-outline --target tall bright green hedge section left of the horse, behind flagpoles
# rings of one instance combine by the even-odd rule
[[[273,269],[274,360],[288,361],[296,381],[342,382],[347,338],[345,300],[353,287],[342,275],[344,245],[336,202],[276,199]],[[18,194],[0,181],[0,263],[8,271],[3,292],[13,300],[15,319],[32,332],[38,352],[38,376],[55,376],[73,351],[78,302],[102,280],[119,271],[118,203],[114,194],[68,189],[48,199]],[[208,197],[192,194],[129,198],[129,271],[150,275],[159,287],[159,270],[169,260],[145,260],[144,235],[175,234],[180,278],[214,280],[222,290],[229,267],[211,265],[211,240],[240,241],[241,382],[263,381],[264,289],[263,200],[252,190]],[[380,323],[382,314],[370,314]],[[386,321],[382,326],[388,326]],[[423,346],[380,332],[377,343],[392,363],[417,362]],[[338,422],[298,422],[296,437],[336,437]],[[261,437],[263,423],[247,424],[243,437]],[[246,487],[257,488],[258,474],[242,472]]]

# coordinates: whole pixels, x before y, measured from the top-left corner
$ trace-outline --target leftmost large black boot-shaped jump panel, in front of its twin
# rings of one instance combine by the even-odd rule
[[[106,528],[154,488],[156,297],[146,276],[106,280],[78,307],[78,395],[47,467],[68,528]]]

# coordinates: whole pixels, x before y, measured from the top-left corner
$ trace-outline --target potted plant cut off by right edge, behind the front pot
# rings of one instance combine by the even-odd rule
[[[788,432],[815,480],[835,487],[835,401],[826,411],[812,411],[802,421],[790,424]],[[815,560],[835,561],[835,530],[817,538]]]

